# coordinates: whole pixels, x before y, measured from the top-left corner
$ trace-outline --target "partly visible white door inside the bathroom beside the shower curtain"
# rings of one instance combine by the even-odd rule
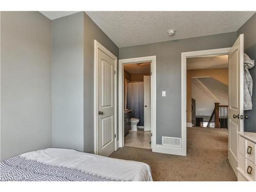
[[[151,76],[144,76],[144,131],[151,131]]]

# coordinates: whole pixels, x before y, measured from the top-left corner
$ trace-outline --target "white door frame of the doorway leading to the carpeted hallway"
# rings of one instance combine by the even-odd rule
[[[181,53],[181,147],[182,155],[187,155],[187,58],[228,54],[231,48],[209,49]]]

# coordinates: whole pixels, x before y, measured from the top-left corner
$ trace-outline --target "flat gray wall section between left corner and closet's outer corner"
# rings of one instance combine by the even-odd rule
[[[52,139],[83,151],[83,12],[52,21]]]

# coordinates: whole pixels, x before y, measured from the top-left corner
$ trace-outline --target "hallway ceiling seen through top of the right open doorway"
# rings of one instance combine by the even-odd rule
[[[227,68],[228,55],[187,58],[187,70]]]

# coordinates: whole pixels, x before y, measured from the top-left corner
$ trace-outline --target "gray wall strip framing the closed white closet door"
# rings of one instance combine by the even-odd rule
[[[94,39],[118,57],[118,47],[84,13],[84,151],[89,153],[94,153]]]

